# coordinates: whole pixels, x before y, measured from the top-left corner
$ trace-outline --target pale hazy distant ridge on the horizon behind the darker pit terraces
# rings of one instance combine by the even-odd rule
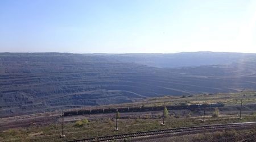
[[[127,53],[96,54],[121,62],[135,62],[158,68],[177,68],[183,66],[227,65],[241,60],[256,59],[254,53],[228,52],[181,52],[181,53]]]

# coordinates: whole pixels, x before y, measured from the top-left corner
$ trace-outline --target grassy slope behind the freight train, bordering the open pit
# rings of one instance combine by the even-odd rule
[[[241,93],[218,93],[218,94],[197,94],[197,95],[187,95],[187,96],[170,96],[148,98],[143,101],[133,102],[133,103],[122,103],[119,105],[106,105],[97,106],[93,108],[115,108],[115,107],[134,107],[134,106],[163,106],[166,105],[184,105],[184,104],[201,104],[201,103],[225,103],[225,105],[237,105],[241,103],[243,99],[243,104],[256,103],[256,92],[247,91]],[[88,109],[88,107],[84,107]],[[81,110],[81,108],[72,108],[69,110]]]

